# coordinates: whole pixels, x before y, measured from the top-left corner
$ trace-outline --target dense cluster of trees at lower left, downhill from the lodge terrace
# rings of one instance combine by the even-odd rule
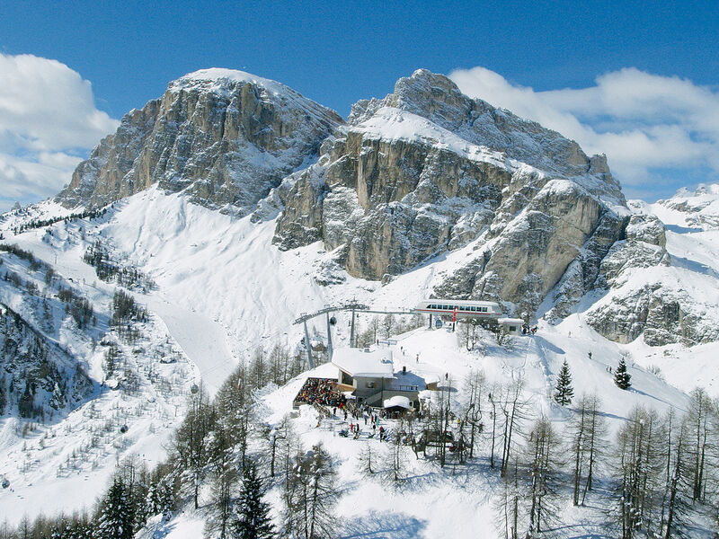
[[[23,518],[15,528],[0,526],[0,539],[130,539],[150,517],[169,519],[188,503],[208,508],[207,533],[222,539],[329,536],[338,496],[332,457],[321,445],[303,446],[288,418],[269,426],[258,413],[258,390],[284,384],[299,368],[299,358],[278,344],[236,367],[214,399],[193,385],[163,464],[148,471],[127,459],[92,510]],[[282,492],[279,528],[264,499],[275,486]]]

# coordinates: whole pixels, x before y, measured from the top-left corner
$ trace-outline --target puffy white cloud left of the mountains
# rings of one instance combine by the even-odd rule
[[[0,53],[0,211],[47,198],[119,122],[94,106],[92,84],[57,60]]]

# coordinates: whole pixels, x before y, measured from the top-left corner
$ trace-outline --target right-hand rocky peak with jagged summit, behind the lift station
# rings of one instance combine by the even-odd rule
[[[355,105],[278,194],[281,249],[322,240],[351,275],[380,279],[476,241],[435,294],[531,313],[582,250],[596,277],[628,215],[603,156],[425,70]]]

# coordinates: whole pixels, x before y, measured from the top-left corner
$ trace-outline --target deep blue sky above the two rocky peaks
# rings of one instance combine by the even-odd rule
[[[0,183],[10,185],[22,172],[31,175],[22,159],[41,162],[38,152],[42,148],[51,154],[44,156],[45,164],[57,162],[58,167],[67,169],[68,163],[87,155],[93,146],[87,146],[88,137],[99,140],[103,129],[111,130],[111,119],[119,119],[129,109],[159,96],[170,80],[210,66],[243,69],[279,80],[343,116],[352,102],[383,97],[392,91],[397,78],[410,75],[418,67],[455,72],[464,75],[460,87],[467,93],[482,93],[478,96],[519,109],[523,116],[535,115],[537,103],[540,108],[548,106],[549,110],[534,119],[549,124],[556,120],[551,127],[564,132],[566,126],[570,132],[565,134],[577,138],[582,146],[606,151],[610,166],[629,195],[665,196],[684,184],[716,181],[719,163],[702,154],[719,146],[719,136],[715,137],[711,127],[682,125],[686,132],[683,142],[688,146],[681,146],[680,141],[680,151],[691,158],[665,158],[660,166],[651,167],[644,157],[641,166],[635,166],[626,165],[623,160],[629,156],[619,152],[617,168],[612,153],[621,150],[626,140],[639,139],[606,137],[607,133],[635,132],[659,121],[661,129],[644,129],[644,134],[666,138],[669,131],[676,131],[675,117],[680,111],[658,120],[658,112],[649,110],[647,102],[639,103],[639,109],[651,117],[628,113],[626,106],[617,108],[611,103],[598,109],[582,108],[575,102],[584,97],[595,100],[599,95],[611,100],[613,94],[606,90],[621,79],[630,93],[641,92],[646,85],[661,87],[670,92],[670,98],[674,95],[671,92],[679,92],[679,100],[687,102],[706,98],[706,106],[714,110],[719,84],[719,3],[387,4],[5,3],[0,17],[0,53],[5,58],[34,55],[57,60],[92,84],[91,99],[98,110],[84,110],[93,118],[93,129],[66,146],[50,140],[27,143],[27,139],[37,137],[32,133],[8,134],[11,129],[4,128],[0,110],[0,154],[6,156],[6,166],[0,162]],[[481,69],[457,72],[474,67]],[[19,62],[8,68],[27,71]],[[623,75],[608,82],[600,78],[612,73]],[[474,82],[470,75],[475,77]],[[642,75],[650,78],[640,80]],[[13,77],[9,78],[12,81]],[[672,81],[687,84],[680,88],[681,84]],[[624,87],[621,84],[619,88]],[[68,83],[67,91],[72,87]],[[556,93],[567,89],[575,92]],[[590,92],[582,93],[584,90]],[[506,94],[513,97],[507,101]],[[528,96],[529,101],[518,102],[522,96]],[[664,90],[655,98],[661,101],[662,96],[666,97]],[[565,101],[573,102],[572,110],[566,110]],[[689,113],[699,115],[698,110]],[[572,128],[572,119],[563,121],[567,114],[577,119],[583,130]],[[667,154],[662,148],[671,140],[674,138],[653,146],[647,143],[644,152],[661,150]],[[22,146],[22,141],[27,144]],[[701,144],[692,146],[692,142]],[[639,146],[642,144],[639,140]],[[4,178],[4,169],[13,167],[20,172],[15,176],[7,172]],[[67,175],[67,170],[63,173]],[[57,183],[59,177],[53,181]],[[55,183],[53,189],[57,188]],[[17,194],[18,198],[30,196]],[[0,210],[3,206],[0,200]]]

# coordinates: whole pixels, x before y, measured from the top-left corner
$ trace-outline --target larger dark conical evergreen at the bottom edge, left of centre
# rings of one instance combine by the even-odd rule
[[[257,477],[257,466],[247,462],[243,470],[240,498],[235,507],[235,520],[230,525],[237,539],[270,539],[275,536],[270,518],[270,504],[262,501],[264,490]]]

